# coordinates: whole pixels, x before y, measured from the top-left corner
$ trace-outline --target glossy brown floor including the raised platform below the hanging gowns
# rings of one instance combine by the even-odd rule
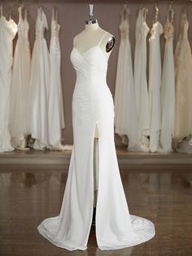
[[[118,161],[123,155],[118,152]],[[58,156],[62,153],[39,152],[38,157],[37,152],[0,155],[1,256],[192,256],[190,155],[154,155],[153,158],[149,154],[129,153],[127,157],[125,154],[120,174],[130,214],[151,219],[155,223],[155,237],[131,248],[101,251],[91,227],[88,249],[73,252],[50,244],[37,232],[42,219],[59,214],[63,200],[70,152],[65,156],[66,166]],[[50,165],[46,162],[49,159]],[[33,165],[32,160],[37,163]],[[132,167],[126,169],[130,161]]]

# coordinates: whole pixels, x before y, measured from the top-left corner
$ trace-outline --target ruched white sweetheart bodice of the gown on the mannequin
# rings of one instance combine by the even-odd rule
[[[73,47],[71,61],[76,70],[76,97],[94,97],[110,92],[107,78],[107,57],[100,46],[90,47],[82,54]]]

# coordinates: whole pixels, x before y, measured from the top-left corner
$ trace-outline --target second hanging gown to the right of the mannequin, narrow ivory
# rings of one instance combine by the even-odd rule
[[[134,86],[137,104],[137,124],[139,140],[142,144],[149,146],[150,135],[150,113],[149,95],[146,82],[146,36],[149,27],[146,24],[146,11],[142,7],[138,11],[135,31],[135,55],[134,55]]]

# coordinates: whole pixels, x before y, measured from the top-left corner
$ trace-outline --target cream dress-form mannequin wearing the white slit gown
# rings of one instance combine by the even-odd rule
[[[73,41],[73,46],[82,55],[85,51],[90,48],[97,46],[102,49],[107,60],[111,54],[111,50],[115,45],[115,38],[111,33],[107,33],[106,30],[102,29],[98,25],[98,20],[93,20],[93,5],[89,4],[89,20],[85,21],[85,29],[78,33]],[[104,33],[106,33],[104,35]],[[96,202],[97,202],[97,192],[98,192],[98,126],[94,130],[94,214],[93,222],[95,223],[95,212],[96,212]]]

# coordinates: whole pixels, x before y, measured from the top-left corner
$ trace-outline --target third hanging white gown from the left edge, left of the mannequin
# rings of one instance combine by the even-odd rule
[[[35,149],[49,148],[48,100],[50,86],[50,55],[44,38],[48,29],[46,15],[38,8],[36,21],[36,40],[33,46],[30,79],[31,91],[31,135],[36,142]]]

